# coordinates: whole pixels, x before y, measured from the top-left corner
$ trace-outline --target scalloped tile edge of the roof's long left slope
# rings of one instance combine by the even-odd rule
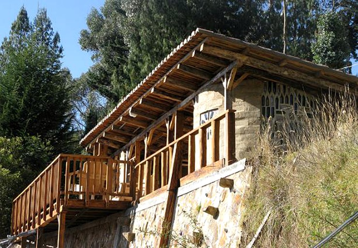
[[[80,140],[80,144],[83,145],[83,146],[86,146],[90,143],[90,141],[93,139],[90,138],[90,136],[92,136],[93,132],[100,128],[100,126],[102,126],[104,124],[104,122],[106,120],[108,120],[118,109],[119,107],[124,103],[126,102],[129,97],[131,95],[133,95],[135,92],[137,92],[148,80],[150,77],[152,77],[155,72],[165,63],[167,62],[176,52],[179,51],[179,49],[181,47],[183,47],[185,44],[187,44],[189,41],[191,41],[191,39],[197,34],[199,33],[200,31],[202,31],[201,29],[197,28],[195,31],[193,31],[189,36],[188,38],[186,38],[183,42],[181,42],[177,47],[175,47],[171,52],[170,54],[168,54],[161,62],[158,63],[158,65],[149,73],[149,75],[144,78],[130,93],[128,93],[118,104],[117,106],[112,109],[112,111],[110,113],[108,113],[96,126],[94,126],[86,135],[85,137],[82,138],[82,140]],[[134,100],[135,101],[135,100]],[[107,127],[107,126],[106,126]],[[104,127],[105,128],[105,127]],[[101,131],[100,131],[101,132]],[[95,134],[94,136],[97,136],[98,134]]]

